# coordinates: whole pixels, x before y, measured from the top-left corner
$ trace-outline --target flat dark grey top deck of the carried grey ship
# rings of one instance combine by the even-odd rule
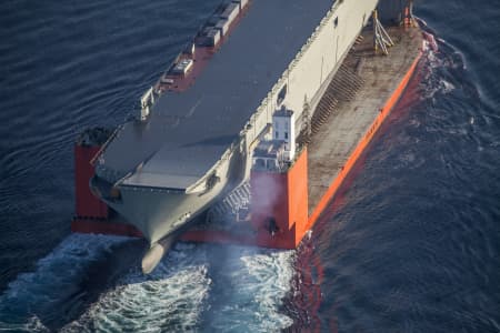
[[[253,0],[202,75],[167,92],[149,120],[129,122],[109,144],[104,167],[129,185],[186,188],[238,138],[261,100],[334,1]]]

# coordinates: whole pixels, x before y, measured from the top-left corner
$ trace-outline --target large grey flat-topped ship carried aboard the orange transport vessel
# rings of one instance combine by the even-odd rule
[[[406,20],[413,24],[411,0],[222,2],[133,117],[86,157],[94,203],[148,241],[143,271],[253,171],[300,164],[314,110],[363,29],[387,53],[380,22]]]

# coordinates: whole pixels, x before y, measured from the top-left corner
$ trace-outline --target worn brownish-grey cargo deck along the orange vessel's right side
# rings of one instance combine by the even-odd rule
[[[358,74],[364,84],[353,100],[337,105],[309,144],[309,214],[397,89],[422,46],[420,29],[391,28],[389,34],[397,46],[390,49],[388,57],[373,56],[372,33],[364,32],[364,41],[356,46],[344,60],[353,68],[358,59],[363,58]]]

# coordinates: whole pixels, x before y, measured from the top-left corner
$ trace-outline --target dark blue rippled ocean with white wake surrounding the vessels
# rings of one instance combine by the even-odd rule
[[[1,332],[500,332],[500,6],[438,40],[298,251],[71,234],[76,135],[118,124],[219,0],[0,2]]]

